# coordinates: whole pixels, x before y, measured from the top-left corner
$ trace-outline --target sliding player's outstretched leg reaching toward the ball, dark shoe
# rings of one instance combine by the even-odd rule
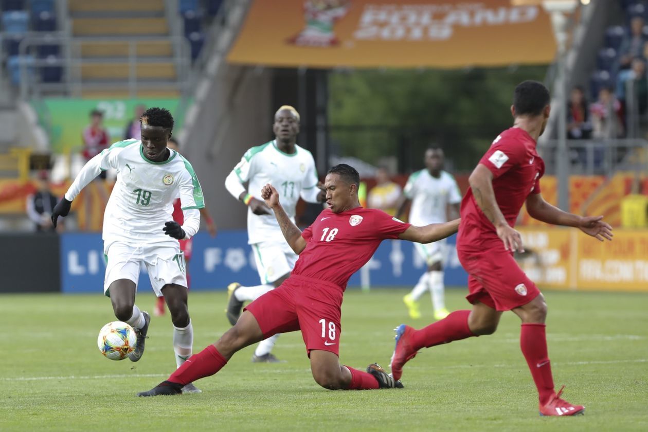
[[[182,388],[193,381],[211,376],[221,370],[235,352],[263,339],[257,319],[245,311],[235,326],[227,330],[213,345],[187,359],[166,381],[137,396],[181,394]]]

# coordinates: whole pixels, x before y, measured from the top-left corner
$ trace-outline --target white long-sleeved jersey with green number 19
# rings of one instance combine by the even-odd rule
[[[118,171],[104,213],[104,242],[177,245],[162,231],[172,221],[173,201],[179,196],[185,210],[183,229],[190,238],[200,227],[198,209],[205,207],[202,189],[191,164],[170,150],[168,159],[153,162],[142,152],[141,141],[115,142],[93,157],[65,194],[72,201],[93,178],[108,168]]]

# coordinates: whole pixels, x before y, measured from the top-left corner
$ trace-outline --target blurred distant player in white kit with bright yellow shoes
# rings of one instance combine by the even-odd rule
[[[461,192],[452,174],[443,170],[443,150],[430,147],[425,152],[425,169],[411,174],[403,190],[402,201],[397,218],[411,201],[410,223],[427,225],[443,223],[459,217]],[[425,260],[427,269],[421,279],[403,301],[408,307],[410,317],[421,317],[419,299],[425,291],[432,293],[434,318],[443,319],[448,315],[445,307],[445,286],[443,285],[443,261],[445,240],[430,244],[415,244],[419,255]]]

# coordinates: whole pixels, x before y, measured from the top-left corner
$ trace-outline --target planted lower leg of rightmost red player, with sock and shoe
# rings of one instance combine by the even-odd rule
[[[583,414],[583,405],[572,405],[561,399],[562,389],[557,394],[554,390],[551,362],[547,350],[546,326],[547,304],[542,294],[531,302],[513,309],[522,319],[520,348],[529,365],[531,376],[538,389],[540,415],[570,416]],[[563,386],[564,388],[564,386]]]

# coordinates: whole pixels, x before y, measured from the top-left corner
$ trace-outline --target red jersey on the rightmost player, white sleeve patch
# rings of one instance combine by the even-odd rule
[[[544,162],[540,159],[536,142],[526,131],[510,128],[492,142],[491,148],[481,158],[481,165],[491,170],[495,199],[506,222],[515,226],[520,209],[529,194],[540,193],[540,177]],[[477,205],[469,188],[461,201],[461,225],[457,248],[483,249],[503,247],[502,240],[491,221]]]

